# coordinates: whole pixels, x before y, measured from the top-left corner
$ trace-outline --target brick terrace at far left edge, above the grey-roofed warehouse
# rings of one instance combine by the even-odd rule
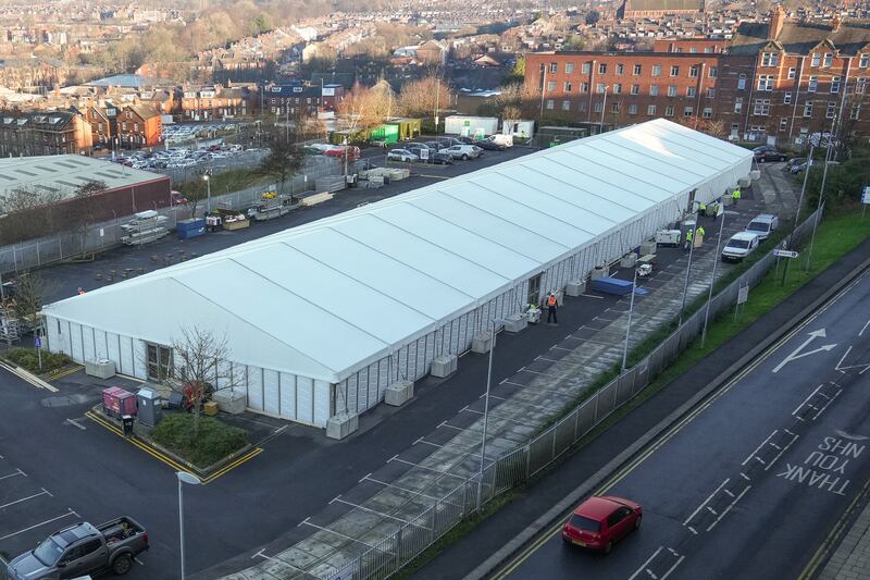
[[[79,153],[92,146],[90,124],[71,111],[0,111],[0,157]]]

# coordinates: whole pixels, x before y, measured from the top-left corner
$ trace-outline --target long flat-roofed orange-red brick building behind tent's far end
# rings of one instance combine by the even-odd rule
[[[722,54],[537,52],[526,55],[527,95],[544,118],[617,125],[650,119],[689,126],[712,120]]]

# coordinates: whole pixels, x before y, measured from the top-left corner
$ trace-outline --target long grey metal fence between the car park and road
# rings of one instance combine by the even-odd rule
[[[795,247],[806,238],[822,211],[823,208],[809,215],[779,247]],[[710,319],[736,303],[739,288],[757,285],[775,260],[773,252],[768,252],[719,292],[709,301]],[[382,579],[396,573],[463,518],[473,514],[478,506],[526,482],[552,464],[608,416],[648,386],[701,333],[706,310],[705,304],[643,360],[597,390],[546,431],[526,444],[500,454],[485,467],[482,479],[480,474],[469,477],[450,493],[434,501],[417,518],[397,522],[397,529],[391,534],[370,545],[368,550],[362,548],[359,556],[338,572],[331,570],[313,576],[301,572],[293,578]]]

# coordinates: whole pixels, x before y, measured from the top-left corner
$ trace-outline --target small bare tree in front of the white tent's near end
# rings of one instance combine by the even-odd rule
[[[210,330],[183,328],[172,342],[170,387],[179,393],[194,416],[194,436],[199,432],[202,404],[219,391],[241,384],[233,372],[226,336],[215,336]]]

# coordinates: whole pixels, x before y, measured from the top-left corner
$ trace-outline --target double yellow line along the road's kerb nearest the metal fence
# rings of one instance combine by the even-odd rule
[[[845,293],[845,291],[844,291]],[[619,470],[613,477],[611,477],[606,483],[604,483],[600,488],[595,490],[592,495],[602,495],[607,493],[610,489],[612,489],[617,483],[625,479],[632,471],[637,469],[637,467],[646,461],[649,456],[651,456],[656,451],[658,451],[662,445],[668,443],[676,433],[682,431],[688,423],[691,423],[695,418],[697,418],[701,412],[704,412],[708,407],[710,407],[719,397],[726,394],[731,388],[742,381],[747,374],[753,372],[759,365],[761,365],[765,360],[767,360],[772,354],[779,350],[783,344],[788,342],[795,334],[799,333],[804,330],[812,320],[815,320],[819,313],[828,309],[833,301],[835,301],[840,296],[844,293],[838,294],[831,303],[825,305],[824,308],[820,309],[815,316],[808,318],[804,322],[801,322],[797,328],[791,331],[788,334],[776,341],[772,346],[770,346],[761,356],[756,358],[756,360],[737,373],[733,379],[731,379],[723,387],[719,388],[716,393],[711,394],[704,403],[695,407],[688,415],[686,415],[682,420],[680,420],[676,424],[671,427],[663,435],[660,435],[655,443],[652,443],[649,447],[644,449],[638,456],[632,459],[629,464],[626,464],[621,470]],[[514,556],[504,568],[497,571],[494,575],[494,578],[501,580],[513,572],[517,568],[519,568],[526,559],[529,559],[535,552],[537,552],[540,546],[549,542],[554,539],[557,534],[560,533],[562,526],[564,525],[564,518],[559,518],[556,523],[550,526],[545,532],[540,534],[540,536],[532,542],[529,546],[526,546],[522,552],[520,552],[517,556]]]

